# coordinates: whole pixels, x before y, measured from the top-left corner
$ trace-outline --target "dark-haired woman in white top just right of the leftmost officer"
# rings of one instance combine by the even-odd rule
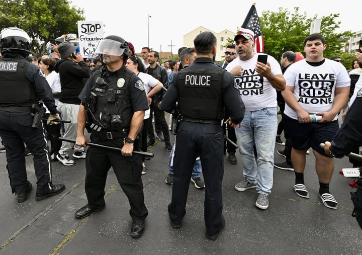
[[[60,96],[60,79],[59,74],[54,71],[55,67],[55,59],[49,56],[43,56],[39,61],[39,68],[44,73],[45,79],[48,81],[49,86],[53,92],[55,105],[58,106],[59,102],[59,96]],[[47,112],[45,113],[44,118],[49,117],[49,111],[47,109]],[[52,161],[57,160],[56,154],[58,153],[61,141],[59,141],[60,134],[60,125],[44,125],[46,131],[50,135],[50,155]]]

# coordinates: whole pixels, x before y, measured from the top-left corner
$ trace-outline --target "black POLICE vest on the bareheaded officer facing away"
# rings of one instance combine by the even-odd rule
[[[224,69],[193,68],[178,72],[178,108],[182,116],[196,120],[221,120],[225,117],[222,103],[221,76]]]

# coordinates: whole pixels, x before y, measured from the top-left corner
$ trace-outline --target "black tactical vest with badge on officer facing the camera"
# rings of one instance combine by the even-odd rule
[[[102,70],[95,72],[95,83],[91,92],[96,100],[93,100],[95,105],[91,105],[89,109],[94,109],[93,116],[106,127],[105,131],[121,131],[128,129],[131,124],[133,111],[127,97],[127,90],[133,73],[125,68],[121,72],[118,74],[118,79],[107,84],[97,82],[98,77],[106,80],[106,77],[102,75]]]

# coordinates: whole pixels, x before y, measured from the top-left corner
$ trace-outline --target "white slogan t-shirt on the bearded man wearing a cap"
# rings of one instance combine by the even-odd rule
[[[258,55],[256,53],[246,61],[235,58],[226,67],[227,71],[230,71],[237,65],[244,69],[241,74],[236,75],[234,78],[246,111],[257,111],[265,107],[277,107],[276,90],[265,77],[255,70]],[[275,75],[282,74],[282,69],[274,57],[268,55],[267,62],[269,62],[270,68],[272,68],[272,72]]]

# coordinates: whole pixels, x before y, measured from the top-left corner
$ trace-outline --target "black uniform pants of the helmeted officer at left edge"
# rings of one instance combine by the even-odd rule
[[[0,111],[0,136],[6,148],[10,186],[16,194],[29,187],[25,164],[25,146],[31,151],[37,177],[37,193],[51,191],[51,160],[43,125],[32,128],[30,113]]]

